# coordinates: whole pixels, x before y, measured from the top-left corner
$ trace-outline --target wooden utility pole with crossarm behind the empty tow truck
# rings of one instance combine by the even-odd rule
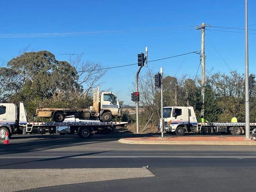
[[[204,116],[204,93],[205,93],[205,53],[204,53],[204,34],[205,34],[205,27],[209,27],[205,23],[202,23],[201,26],[197,27],[197,30],[201,30],[202,32],[202,47],[201,47],[201,59],[202,59],[202,90],[201,90],[201,98],[202,98],[202,110],[201,116]]]

